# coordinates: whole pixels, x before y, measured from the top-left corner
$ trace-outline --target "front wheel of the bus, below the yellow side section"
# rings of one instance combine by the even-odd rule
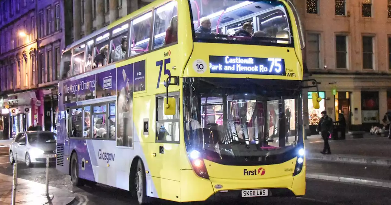
[[[145,168],[143,162],[139,159],[137,162],[136,170],[133,172],[131,178],[132,195],[137,198],[140,205],[151,203],[151,198],[147,196],[147,182],[145,177]]]

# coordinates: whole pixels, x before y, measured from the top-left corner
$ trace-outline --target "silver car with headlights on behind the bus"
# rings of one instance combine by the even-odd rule
[[[49,162],[56,162],[56,134],[49,131],[19,132],[9,147],[9,162],[13,164],[25,162],[26,166],[45,163],[49,155]]]

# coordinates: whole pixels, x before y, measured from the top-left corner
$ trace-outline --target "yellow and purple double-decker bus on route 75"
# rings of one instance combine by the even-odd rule
[[[140,204],[304,195],[302,37],[289,0],[156,0],[74,42],[56,168]]]

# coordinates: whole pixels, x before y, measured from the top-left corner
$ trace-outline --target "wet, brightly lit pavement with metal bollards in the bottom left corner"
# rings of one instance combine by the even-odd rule
[[[12,184],[12,176],[0,174],[0,205],[11,204]],[[16,186],[16,204],[18,205],[68,205],[74,201],[73,193],[49,186],[49,196],[46,196],[44,184],[18,178]]]

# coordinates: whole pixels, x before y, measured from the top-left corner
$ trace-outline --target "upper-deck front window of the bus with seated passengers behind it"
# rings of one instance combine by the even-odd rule
[[[198,41],[291,43],[291,28],[282,2],[190,0],[190,5]]]

